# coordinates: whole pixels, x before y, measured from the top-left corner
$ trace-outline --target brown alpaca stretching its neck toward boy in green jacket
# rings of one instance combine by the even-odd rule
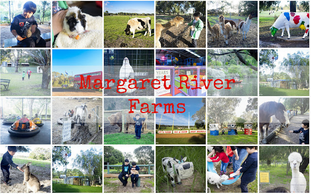
[[[180,16],[176,16],[175,18],[171,19],[169,22],[166,24],[160,24],[156,23],[155,24],[155,47],[160,48],[161,43],[160,43],[160,38],[163,37],[163,34],[168,31],[171,27],[176,26],[178,27],[179,25],[184,23],[184,18]]]

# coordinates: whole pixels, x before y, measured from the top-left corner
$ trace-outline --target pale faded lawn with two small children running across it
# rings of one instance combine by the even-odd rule
[[[1,85],[1,96],[51,96],[51,83],[49,89],[41,89],[42,74],[32,73],[30,79],[26,74],[24,81],[21,73],[1,73],[1,79],[9,79],[9,90],[3,91]]]

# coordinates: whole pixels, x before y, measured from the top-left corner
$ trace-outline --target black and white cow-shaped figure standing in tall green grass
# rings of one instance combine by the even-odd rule
[[[189,178],[193,174],[193,163],[186,162],[187,157],[181,156],[180,161],[176,158],[162,158],[163,172],[167,173],[166,178],[171,178],[172,186],[176,187],[174,178],[177,176],[177,184],[181,185],[181,179]]]

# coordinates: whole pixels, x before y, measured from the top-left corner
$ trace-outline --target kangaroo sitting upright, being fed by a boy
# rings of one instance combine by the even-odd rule
[[[24,171],[24,181],[23,185],[27,183],[27,193],[29,193],[29,190],[31,190],[34,193],[37,193],[41,188],[43,188],[44,185],[40,185],[40,181],[38,178],[35,177],[35,175],[30,173],[29,166],[31,162],[28,162],[27,164],[24,164],[21,169]]]

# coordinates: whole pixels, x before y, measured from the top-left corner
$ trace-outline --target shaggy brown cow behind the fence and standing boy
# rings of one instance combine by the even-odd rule
[[[147,120],[148,120],[148,114],[147,113],[141,113],[140,111],[133,110],[134,113],[128,113],[130,110],[125,109],[125,119],[126,119],[126,126],[125,126],[125,133],[128,133],[128,129],[130,125],[135,125],[135,121],[133,120],[133,117],[138,113],[140,118],[146,118],[146,120],[142,123],[141,132],[143,133],[144,130],[147,130]],[[122,131],[122,113],[118,112],[115,114],[111,114],[108,116],[108,120],[110,122],[110,125],[118,125],[120,128],[119,133]]]

